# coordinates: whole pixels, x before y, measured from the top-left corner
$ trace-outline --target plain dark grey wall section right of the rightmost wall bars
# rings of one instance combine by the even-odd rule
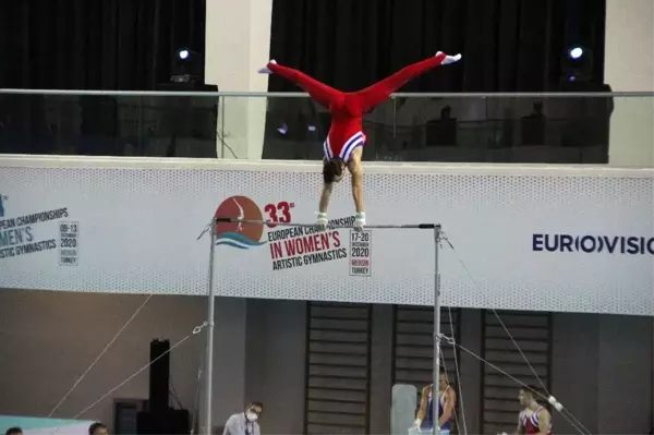
[[[652,318],[555,313],[553,323],[552,394],[590,433],[647,433]],[[621,418],[627,414],[629,419]],[[561,416],[555,419],[557,434],[579,433]]]

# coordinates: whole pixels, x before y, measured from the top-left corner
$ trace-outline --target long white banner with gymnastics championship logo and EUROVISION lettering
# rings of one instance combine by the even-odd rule
[[[3,158],[0,287],[206,294],[211,216],[311,223],[317,162]],[[445,305],[654,315],[654,170],[366,164],[368,223],[440,223]],[[329,218],[351,223],[348,180]],[[220,223],[219,295],[432,304],[433,230]]]

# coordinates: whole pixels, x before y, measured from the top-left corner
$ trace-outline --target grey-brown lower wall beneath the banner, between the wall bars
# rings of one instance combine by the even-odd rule
[[[134,313],[144,297],[0,291],[0,410],[46,415],[77,376]],[[57,412],[74,416],[148,362],[149,341],[185,337],[205,318],[206,299],[156,297]],[[266,410],[266,435],[303,428],[304,302],[220,299],[216,305],[214,423],[221,425],[249,400]],[[482,353],[481,315],[462,310],[460,343]],[[555,314],[553,394],[593,434],[646,434],[652,416],[652,318]],[[387,434],[392,363],[392,309],[373,311],[371,433]],[[171,355],[171,376],[182,403],[193,407],[203,337]],[[461,353],[461,388],[469,434],[479,433],[481,364]],[[116,391],[145,399],[147,372]],[[80,418],[112,422],[111,399]],[[557,434],[576,434],[555,415]],[[0,428],[2,430],[2,428]]]

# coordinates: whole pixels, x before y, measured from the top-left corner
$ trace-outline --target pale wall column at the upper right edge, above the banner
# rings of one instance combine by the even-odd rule
[[[614,90],[654,92],[654,2],[606,1],[604,81]],[[654,98],[615,98],[609,162],[654,166]]]

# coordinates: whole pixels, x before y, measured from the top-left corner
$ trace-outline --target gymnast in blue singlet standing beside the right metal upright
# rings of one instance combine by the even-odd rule
[[[434,400],[432,387],[433,384],[427,385],[422,389],[420,408],[414,423],[415,427],[429,431],[434,428]],[[438,427],[440,427],[441,431],[451,431],[452,416],[457,403],[457,392],[450,386],[449,379],[445,373],[440,373],[440,376],[438,377],[438,391],[440,392],[440,397],[438,398]]]

